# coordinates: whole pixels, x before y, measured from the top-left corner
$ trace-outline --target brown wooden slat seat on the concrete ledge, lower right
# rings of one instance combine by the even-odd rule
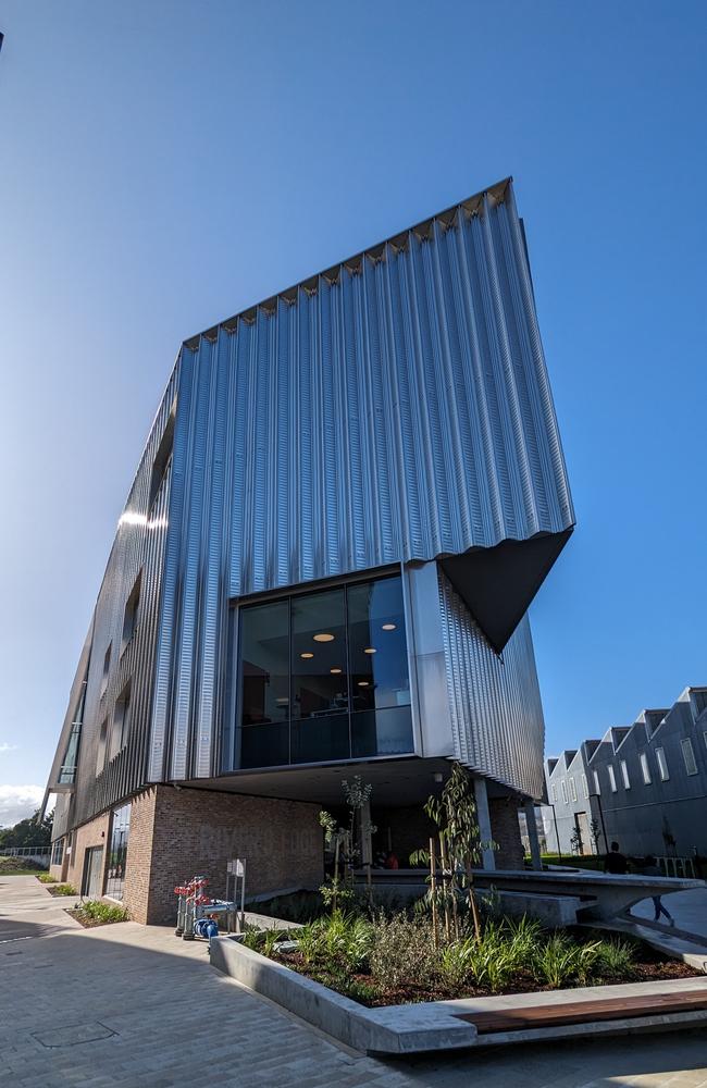
[[[629,1019],[652,1013],[678,1013],[707,1009],[707,991],[652,993],[627,998],[599,998],[595,1001],[570,1001],[558,1005],[529,1005],[491,1012],[457,1013],[459,1019],[476,1026],[480,1035],[493,1031],[521,1031],[533,1027],[557,1027],[583,1021]]]

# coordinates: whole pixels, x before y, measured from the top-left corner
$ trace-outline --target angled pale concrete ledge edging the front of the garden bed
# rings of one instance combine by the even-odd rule
[[[707,1025],[707,979],[704,977],[365,1009],[228,937],[212,940],[211,964],[333,1038],[369,1054],[411,1054],[572,1036],[694,1029]],[[682,993],[690,996],[684,1012],[661,1012],[657,1007],[658,996],[670,994],[679,1000]],[[695,1007],[696,1001],[702,1003],[697,1000],[698,994],[704,996],[704,1007]],[[635,1007],[634,999],[641,996],[646,999],[645,1015]],[[617,1006],[621,999],[630,999],[631,1015],[621,1016],[618,1011],[613,1019],[593,1019],[590,1010],[603,999]],[[520,1023],[522,1010],[557,1009],[567,1002],[576,1006],[583,1001],[587,1003],[587,1018],[581,1023],[562,1025],[553,1023],[550,1017],[549,1026],[528,1025],[493,1034],[480,1034],[473,1023],[474,1013],[511,1014],[517,1011]],[[671,1007],[674,1009],[674,1004]]]

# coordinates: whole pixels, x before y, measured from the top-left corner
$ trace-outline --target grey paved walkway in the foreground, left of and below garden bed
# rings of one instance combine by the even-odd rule
[[[707,1088],[707,1034],[375,1061],[219,975],[206,947],[85,930],[34,877],[0,877],[0,1084],[13,1088]]]

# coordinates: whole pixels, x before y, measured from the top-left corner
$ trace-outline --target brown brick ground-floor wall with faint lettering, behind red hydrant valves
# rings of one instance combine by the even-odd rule
[[[126,906],[136,920],[172,923],[174,887],[197,873],[222,898],[234,857],[246,860],[247,895],[322,882],[319,805],[165,786],[148,792],[134,802],[135,824],[131,814]]]

